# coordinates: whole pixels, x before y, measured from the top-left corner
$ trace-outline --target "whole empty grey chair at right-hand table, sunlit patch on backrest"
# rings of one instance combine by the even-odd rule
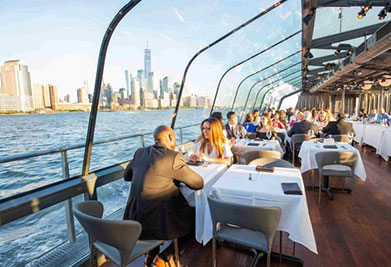
[[[322,193],[322,177],[337,176],[352,178],[354,185],[354,167],[357,162],[357,154],[349,151],[322,151],[315,154],[316,164],[319,170],[319,203]],[[330,165],[342,165],[344,170],[333,169]],[[345,180],[344,180],[345,182]],[[353,188],[352,188],[353,190]]]

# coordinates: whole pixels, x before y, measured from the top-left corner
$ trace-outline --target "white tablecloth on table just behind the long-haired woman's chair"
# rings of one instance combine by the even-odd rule
[[[257,143],[258,146],[249,146],[248,143]],[[240,164],[246,164],[244,159],[244,153],[247,151],[258,151],[258,150],[273,150],[278,151],[282,155],[284,151],[282,150],[280,143],[277,140],[264,140],[256,141],[253,139],[239,139],[236,141],[235,145],[231,148],[232,153],[239,157]]]

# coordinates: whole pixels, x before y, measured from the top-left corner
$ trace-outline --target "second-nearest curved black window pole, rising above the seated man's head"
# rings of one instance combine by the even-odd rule
[[[255,20],[257,20],[258,18],[262,17],[263,15],[269,13],[270,11],[272,11],[273,9],[275,9],[276,7],[278,7],[279,5],[283,4],[284,2],[286,2],[288,0],[280,0],[278,2],[276,2],[274,5],[268,7],[267,9],[265,9],[264,11],[262,11],[261,13],[259,13],[258,15],[256,15],[255,17],[251,18],[250,20],[246,21],[245,23],[243,23],[242,25],[240,25],[239,27],[233,29],[232,31],[230,31],[229,33],[223,35],[222,37],[220,37],[219,39],[217,39],[216,41],[212,42],[211,44],[205,46],[204,48],[202,48],[200,51],[198,51],[189,61],[189,63],[187,63],[187,66],[185,68],[185,72],[183,73],[183,76],[182,76],[182,83],[181,83],[181,88],[179,90],[179,94],[178,94],[178,99],[177,99],[177,103],[176,103],[176,106],[175,106],[175,111],[174,111],[174,114],[172,114],[172,121],[171,121],[171,128],[174,129],[175,127],[175,121],[176,121],[176,118],[178,116],[178,111],[179,111],[179,105],[180,105],[180,102],[181,102],[181,98],[182,98],[182,92],[183,92],[183,88],[185,87],[185,81],[186,81],[186,75],[187,75],[187,71],[189,70],[189,67],[191,65],[191,63],[196,59],[196,57],[198,57],[202,52],[204,52],[205,50],[209,49],[210,47],[214,46],[215,44],[221,42],[222,40],[224,40],[225,38],[231,36],[232,34],[236,33],[237,31],[241,30],[242,28],[246,27],[248,24],[254,22]]]

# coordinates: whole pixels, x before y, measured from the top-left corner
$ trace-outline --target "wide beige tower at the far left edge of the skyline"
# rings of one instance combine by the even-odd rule
[[[20,111],[34,109],[31,78],[27,65],[20,60],[9,60],[1,66],[1,91],[7,98],[9,108]]]

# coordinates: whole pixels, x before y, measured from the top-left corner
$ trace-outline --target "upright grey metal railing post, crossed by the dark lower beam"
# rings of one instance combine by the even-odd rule
[[[61,151],[61,167],[62,167],[62,177],[64,180],[69,179],[69,164],[68,164],[68,156],[67,151]],[[67,220],[67,229],[68,229],[68,240],[70,243],[76,242],[76,232],[75,232],[75,221],[73,219],[73,211],[72,211],[72,199],[68,199],[64,201],[65,208],[65,217]]]

